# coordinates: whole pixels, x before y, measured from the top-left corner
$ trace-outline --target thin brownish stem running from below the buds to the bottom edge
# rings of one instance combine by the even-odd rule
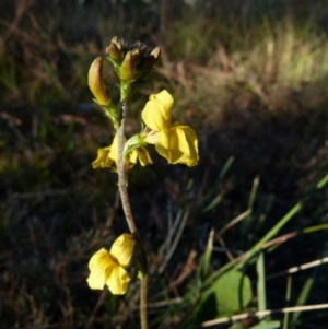
[[[136,239],[137,247],[140,250],[142,258],[142,277],[140,278],[140,322],[141,329],[148,329],[148,316],[147,316],[147,283],[148,283],[148,259],[144,250],[144,246],[140,238],[139,232],[137,230],[136,222],[133,220],[129,195],[127,189],[127,179],[125,173],[125,158],[124,158],[124,141],[125,141],[125,115],[127,110],[127,104],[121,103],[121,121],[120,126],[117,129],[117,139],[118,139],[118,188],[120,192],[120,199],[122,209],[126,215],[128,226],[131,234]]]

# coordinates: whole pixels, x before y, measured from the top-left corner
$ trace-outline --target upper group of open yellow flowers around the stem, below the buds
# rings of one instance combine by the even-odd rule
[[[145,143],[155,144],[160,155],[165,157],[169,164],[186,164],[195,166],[199,160],[198,139],[189,126],[181,126],[179,122],[172,125],[171,109],[173,97],[166,91],[151,95],[141,113],[145,129],[139,136],[140,145],[128,153],[126,168],[136,164],[139,160],[142,166],[151,164],[152,160],[144,148]],[[93,162],[93,168],[117,166],[118,143],[115,137],[110,146],[99,149],[97,158]]]

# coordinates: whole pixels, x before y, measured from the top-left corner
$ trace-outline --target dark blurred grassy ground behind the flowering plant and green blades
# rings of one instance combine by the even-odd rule
[[[128,134],[148,96],[166,89],[173,118],[199,137],[198,166],[168,166],[152,150],[154,165],[130,173],[151,328],[188,316],[162,302],[195,284],[211,228],[213,272],[307,198],[279,233],[292,238],[266,254],[266,273],[327,256],[328,190],[312,192],[328,168],[327,17],[324,0],[1,0],[0,328],[139,328],[138,280],[122,297],[85,282],[91,255],[128,230],[116,174],[91,167],[114,130],[86,77],[113,36],[162,48]],[[104,74],[118,102],[109,62]],[[268,308],[327,303],[327,265],[295,273],[289,302],[285,286],[286,275],[268,280]],[[327,324],[324,309],[288,328]]]

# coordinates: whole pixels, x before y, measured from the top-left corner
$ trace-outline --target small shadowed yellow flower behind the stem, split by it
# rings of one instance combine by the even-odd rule
[[[126,169],[129,168],[130,163],[136,164],[139,160],[142,166],[148,164],[152,164],[152,160],[145,150],[144,146],[139,146],[132,150],[128,154],[128,158],[126,160]],[[95,168],[105,168],[110,167],[116,164],[117,167],[118,162],[118,138],[117,134],[114,137],[113,143],[110,146],[98,149],[97,158],[92,163],[92,167]]]

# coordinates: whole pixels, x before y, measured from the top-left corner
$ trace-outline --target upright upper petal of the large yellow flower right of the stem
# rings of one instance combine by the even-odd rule
[[[171,108],[173,97],[164,90],[156,95],[151,95],[141,113],[144,124],[155,131],[171,128]]]

